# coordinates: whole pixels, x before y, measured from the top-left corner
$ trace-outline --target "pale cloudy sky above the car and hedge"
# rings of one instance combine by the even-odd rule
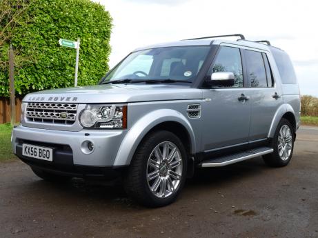
[[[301,95],[318,96],[318,14],[310,0],[94,0],[113,18],[110,68],[139,46],[219,34],[288,52]],[[317,5],[317,6],[316,6]]]

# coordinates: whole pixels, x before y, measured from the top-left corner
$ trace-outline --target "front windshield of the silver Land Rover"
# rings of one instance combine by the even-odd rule
[[[132,52],[103,82],[167,79],[192,81],[206,59],[210,46],[177,46]],[[101,82],[101,83],[103,83]]]

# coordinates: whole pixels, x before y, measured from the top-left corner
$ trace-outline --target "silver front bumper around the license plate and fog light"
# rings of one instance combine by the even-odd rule
[[[126,130],[81,130],[79,132],[46,130],[17,126],[12,132],[12,149],[26,163],[38,163],[39,159],[32,159],[22,155],[22,144],[29,143],[37,146],[53,148],[53,161],[44,165],[59,166],[106,166],[112,167],[115,162],[119,146]],[[83,141],[92,141],[94,149],[89,154],[83,152]]]

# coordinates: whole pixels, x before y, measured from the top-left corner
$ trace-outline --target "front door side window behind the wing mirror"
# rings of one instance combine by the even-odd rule
[[[243,70],[239,48],[221,46],[212,72],[232,72],[235,77],[234,86],[232,86],[232,88],[242,88]]]

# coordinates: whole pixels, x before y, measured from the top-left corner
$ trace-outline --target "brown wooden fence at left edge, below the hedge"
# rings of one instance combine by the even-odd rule
[[[21,115],[21,98],[15,99],[15,121],[20,121]],[[0,97],[0,124],[11,121],[10,99],[8,97]]]

